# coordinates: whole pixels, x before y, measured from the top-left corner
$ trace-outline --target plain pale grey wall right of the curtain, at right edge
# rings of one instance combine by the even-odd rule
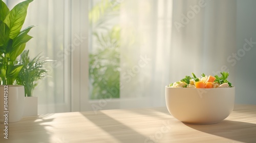
[[[256,104],[256,1],[237,1],[238,60],[231,62],[236,68],[236,103]],[[243,50],[245,39],[252,39],[253,47]],[[247,51],[246,51],[247,50]],[[244,53],[243,53],[244,52]]]

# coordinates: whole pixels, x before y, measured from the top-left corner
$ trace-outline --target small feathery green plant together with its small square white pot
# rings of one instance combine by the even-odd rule
[[[31,59],[29,50],[25,50],[20,54],[17,60],[18,64],[22,64],[23,68],[19,71],[16,79],[18,85],[23,85],[25,88],[25,109],[24,116],[37,115],[37,97],[33,97],[33,90],[38,85],[38,81],[45,78],[47,69],[45,63],[50,60],[37,55]]]

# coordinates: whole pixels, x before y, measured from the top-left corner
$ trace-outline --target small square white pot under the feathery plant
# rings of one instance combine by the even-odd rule
[[[23,116],[37,115],[37,97],[25,97]]]

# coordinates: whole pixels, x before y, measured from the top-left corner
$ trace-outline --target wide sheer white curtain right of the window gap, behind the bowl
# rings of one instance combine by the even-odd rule
[[[121,108],[164,106],[165,85],[192,72],[228,70],[234,82],[227,57],[236,50],[236,1],[141,0],[122,6]]]

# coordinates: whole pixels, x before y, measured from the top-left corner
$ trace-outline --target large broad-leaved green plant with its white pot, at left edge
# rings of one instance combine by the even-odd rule
[[[23,115],[24,86],[15,85],[15,79],[24,65],[16,64],[16,59],[24,51],[26,43],[32,38],[28,32],[33,26],[22,30],[27,16],[27,8],[31,2],[33,0],[19,3],[10,11],[6,4],[0,0],[0,112],[2,114],[4,111],[8,111],[8,122],[17,122]],[[6,89],[7,93],[5,92]],[[6,98],[8,99],[8,108],[4,109],[5,96],[8,96]],[[4,120],[5,118],[1,115],[0,122]]]

